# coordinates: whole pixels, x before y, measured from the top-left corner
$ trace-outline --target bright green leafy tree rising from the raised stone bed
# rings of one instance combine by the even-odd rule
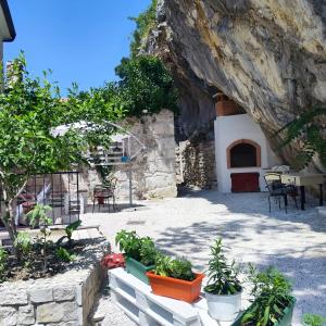
[[[17,237],[14,205],[28,178],[85,162],[83,152],[89,139],[96,139],[74,128],[55,136],[53,129],[80,120],[98,124],[103,117],[110,121],[122,116],[120,108],[103,99],[102,90],[91,90],[84,98],[74,91],[76,87],[62,100],[48,73],[42,79],[33,78],[23,54],[13,61],[7,87],[0,93],[0,185],[5,208],[1,220],[13,243]],[[18,247],[14,246],[14,251],[20,259]]]

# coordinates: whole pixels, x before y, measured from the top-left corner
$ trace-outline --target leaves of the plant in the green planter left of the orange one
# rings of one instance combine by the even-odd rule
[[[149,237],[139,237],[135,230],[126,231],[122,229],[115,236],[115,244],[120,246],[120,250],[125,255],[133,258],[146,266],[152,265],[158,254],[153,240]]]

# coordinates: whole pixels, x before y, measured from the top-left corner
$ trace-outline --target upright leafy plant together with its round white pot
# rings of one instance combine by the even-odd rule
[[[222,253],[222,239],[211,247],[209,281],[204,287],[209,313],[214,319],[233,321],[241,309],[242,287],[235,262],[228,264]]]

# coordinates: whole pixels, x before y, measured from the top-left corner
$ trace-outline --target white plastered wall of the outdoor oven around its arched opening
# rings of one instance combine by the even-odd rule
[[[267,140],[260,128],[248,114],[229,116],[217,116],[214,122],[215,128],[215,155],[218,191],[230,192],[231,173],[258,172],[260,174],[261,191],[265,190],[265,171],[278,164],[276,156],[272,152]],[[234,141],[249,139],[261,146],[261,166],[260,167],[227,167],[226,149]]]

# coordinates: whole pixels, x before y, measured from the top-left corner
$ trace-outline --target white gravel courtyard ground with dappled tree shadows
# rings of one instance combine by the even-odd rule
[[[313,206],[299,211],[289,204],[288,214],[276,204],[269,214],[266,193],[199,191],[139,202],[134,212],[88,213],[82,218],[84,225],[101,225],[112,244],[122,228],[150,236],[160,249],[186,256],[199,271],[206,268],[210,244],[223,237],[230,259],[259,267],[276,265],[291,279],[298,300],[293,325],[301,325],[302,313],[326,315],[326,218]],[[127,325],[118,318],[102,325]]]

